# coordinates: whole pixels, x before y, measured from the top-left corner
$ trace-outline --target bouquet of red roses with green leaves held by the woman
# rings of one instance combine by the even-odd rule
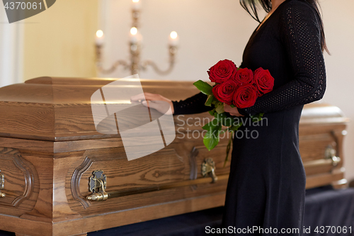
[[[254,105],[259,96],[263,96],[273,90],[274,78],[268,69],[258,68],[254,72],[248,68],[237,68],[234,62],[222,60],[212,66],[209,71],[209,79],[215,82],[215,86],[198,80],[194,85],[207,95],[205,106],[214,108],[210,115],[215,118],[202,128],[207,130],[203,142],[208,150],[212,150],[219,143],[219,135],[231,132],[232,135],[227,145],[227,156],[233,141],[233,133],[241,127],[242,123],[234,122],[234,117],[224,112],[224,103],[231,107],[249,108]],[[253,122],[261,120],[263,113],[251,116]],[[226,126],[226,130],[222,130]]]

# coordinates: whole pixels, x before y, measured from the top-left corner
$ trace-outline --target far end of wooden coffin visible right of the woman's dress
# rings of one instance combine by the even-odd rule
[[[326,103],[304,106],[299,124],[299,150],[306,172],[306,188],[332,184],[348,186],[344,178],[343,137],[348,118]]]

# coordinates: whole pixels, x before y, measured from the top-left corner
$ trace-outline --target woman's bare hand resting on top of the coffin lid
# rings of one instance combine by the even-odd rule
[[[146,101],[145,101],[146,99]],[[173,103],[170,99],[161,96],[160,94],[137,94],[130,98],[131,101],[142,101],[144,106],[149,106],[150,108],[154,108],[156,111],[161,113],[166,113],[166,102],[169,103],[171,109],[166,113],[166,115],[172,115],[174,113]],[[162,101],[162,102],[159,102]]]

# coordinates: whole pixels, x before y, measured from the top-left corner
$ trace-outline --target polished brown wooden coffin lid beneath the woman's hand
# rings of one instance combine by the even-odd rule
[[[105,137],[96,131],[91,96],[117,79],[39,77],[0,88],[0,137],[31,140],[84,140]],[[140,79],[144,92],[172,100],[198,93],[192,82]],[[301,124],[345,123],[336,107],[324,103],[305,105]]]

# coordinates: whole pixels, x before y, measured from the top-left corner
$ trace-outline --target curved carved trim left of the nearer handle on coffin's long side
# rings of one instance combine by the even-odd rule
[[[84,159],[84,162],[82,162],[81,165],[79,165],[79,167],[77,167],[74,170],[74,174],[72,174],[72,181],[70,184],[70,188],[72,189],[72,196],[74,200],[79,201],[79,203],[81,203],[81,205],[84,206],[85,209],[89,208],[91,203],[87,201],[86,198],[81,196],[80,179],[82,174],[84,174],[84,172],[86,172],[86,170],[91,167],[92,163],[93,163],[92,160],[89,157],[86,157]]]

